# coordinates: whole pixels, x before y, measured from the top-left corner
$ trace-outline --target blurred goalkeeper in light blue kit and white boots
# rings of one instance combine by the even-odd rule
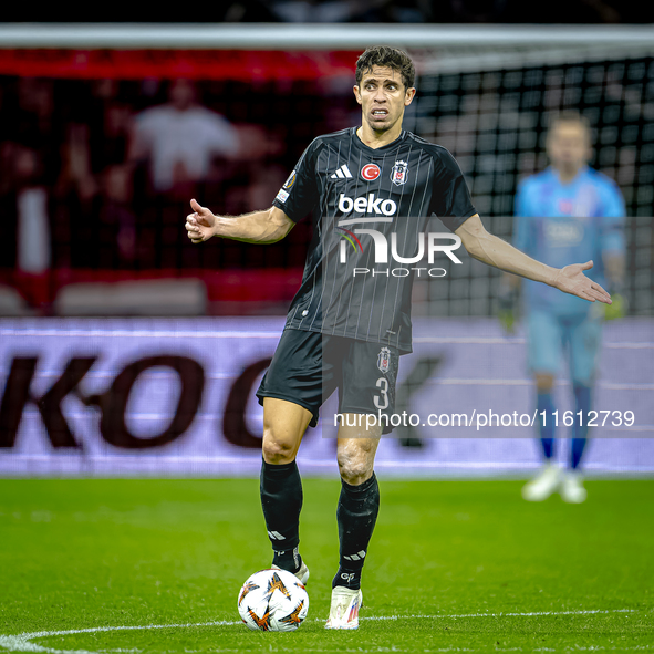
[[[540,474],[522,488],[522,497],[542,501],[559,492],[564,501],[579,504],[586,498],[580,463],[586,445],[602,323],[626,312],[625,207],[617,185],[588,166],[591,129],[580,114],[559,115],[548,132],[547,153],[551,166],[518,187],[513,245],[554,267],[565,261],[592,260],[589,277],[609,288],[613,304],[589,303],[544,284],[522,282],[528,361],[536,383],[544,458]],[[520,282],[518,277],[506,276],[502,280],[499,315],[508,332],[513,330]],[[561,469],[554,463],[559,434],[552,390],[563,359],[570,368],[574,423],[568,466]],[[562,414],[559,412],[560,426]]]

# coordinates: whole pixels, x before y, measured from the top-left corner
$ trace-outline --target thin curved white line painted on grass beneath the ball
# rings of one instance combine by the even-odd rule
[[[360,620],[384,621],[384,620],[455,620],[458,617],[532,617],[537,615],[593,615],[598,613],[635,613],[637,609],[609,609],[588,611],[534,611],[529,613],[460,613],[455,615],[370,615],[360,616]],[[313,622],[321,622],[316,617]],[[73,634],[91,634],[112,631],[144,631],[149,629],[188,629],[191,626],[235,626],[240,625],[240,620],[218,620],[214,622],[189,622],[185,624],[137,624],[118,626],[90,626],[86,629],[69,629],[64,631],[37,631],[18,635],[0,635],[0,647],[10,652],[31,652],[32,654],[98,654],[87,650],[55,650],[43,647],[32,643],[32,639],[44,639],[49,636],[69,636]]]

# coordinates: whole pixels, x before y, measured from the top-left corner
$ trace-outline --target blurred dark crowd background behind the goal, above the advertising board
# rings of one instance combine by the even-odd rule
[[[519,22],[521,6],[240,1],[206,20]],[[584,22],[634,20],[630,3],[567,6],[567,22],[577,20],[577,7]],[[195,197],[230,215],[269,207],[316,135],[360,123],[352,94],[359,51],[335,60],[324,52],[294,60],[260,53],[252,65],[251,53],[232,52],[245,74],[225,73],[229,60],[211,68],[215,53],[188,60],[188,51],[175,50],[158,55],[169,60],[167,74],[138,77],[128,61],[110,75],[80,74],[82,64],[71,75],[21,72],[30,56],[89,58],[52,53],[14,52],[15,72],[9,65],[0,74],[0,314],[283,314],[301,279],[308,221],[273,246],[221,240],[198,247],[184,229],[188,203]],[[438,66],[429,52],[412,54],[418,94],[405,125],[455,155],[479,214],[501,237],[511,238],[518,181],[547,166],[552,115],[573,108],[589,117],[591,165],[615,179],[626,200],[630,312],[651,315],[654,59],[515,56],[492,65],[478,55],[478,66],[457,68]],[[9,61],[8,51],[0,55]],[[193,65],[205,55],[198,73]],[[307,74],[298,58],[314,72]],[[256,73],[260,65],[266,74]],[[497,281],[497,271],[466,259],[443,283],[416,286],[416,313],[492,315]],[[145,286],[110,298],[106,284],[115,290],[118,282]],[[164,301],[142,301],[156,295],[155,282],[178,286],[159,287]]]

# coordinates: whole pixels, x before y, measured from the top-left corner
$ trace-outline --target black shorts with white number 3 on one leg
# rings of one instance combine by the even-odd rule
[[[388,434],[398,357],[390,345],[286,329],[257,397],[259,404],[277,397],[303,406],[315,427],[320,407],[338,388],[339,413],[386,415],[382,424]]]

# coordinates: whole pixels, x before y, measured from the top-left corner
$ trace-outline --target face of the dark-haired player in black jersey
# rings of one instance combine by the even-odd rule
[[[361,80],[361,86],[354,86],[356,102],[361,105],[363,120],[375,132],[393,128],[404,116],[414,95],[415,89],[405,89],[402,75],[386,66],[373,66]]]

